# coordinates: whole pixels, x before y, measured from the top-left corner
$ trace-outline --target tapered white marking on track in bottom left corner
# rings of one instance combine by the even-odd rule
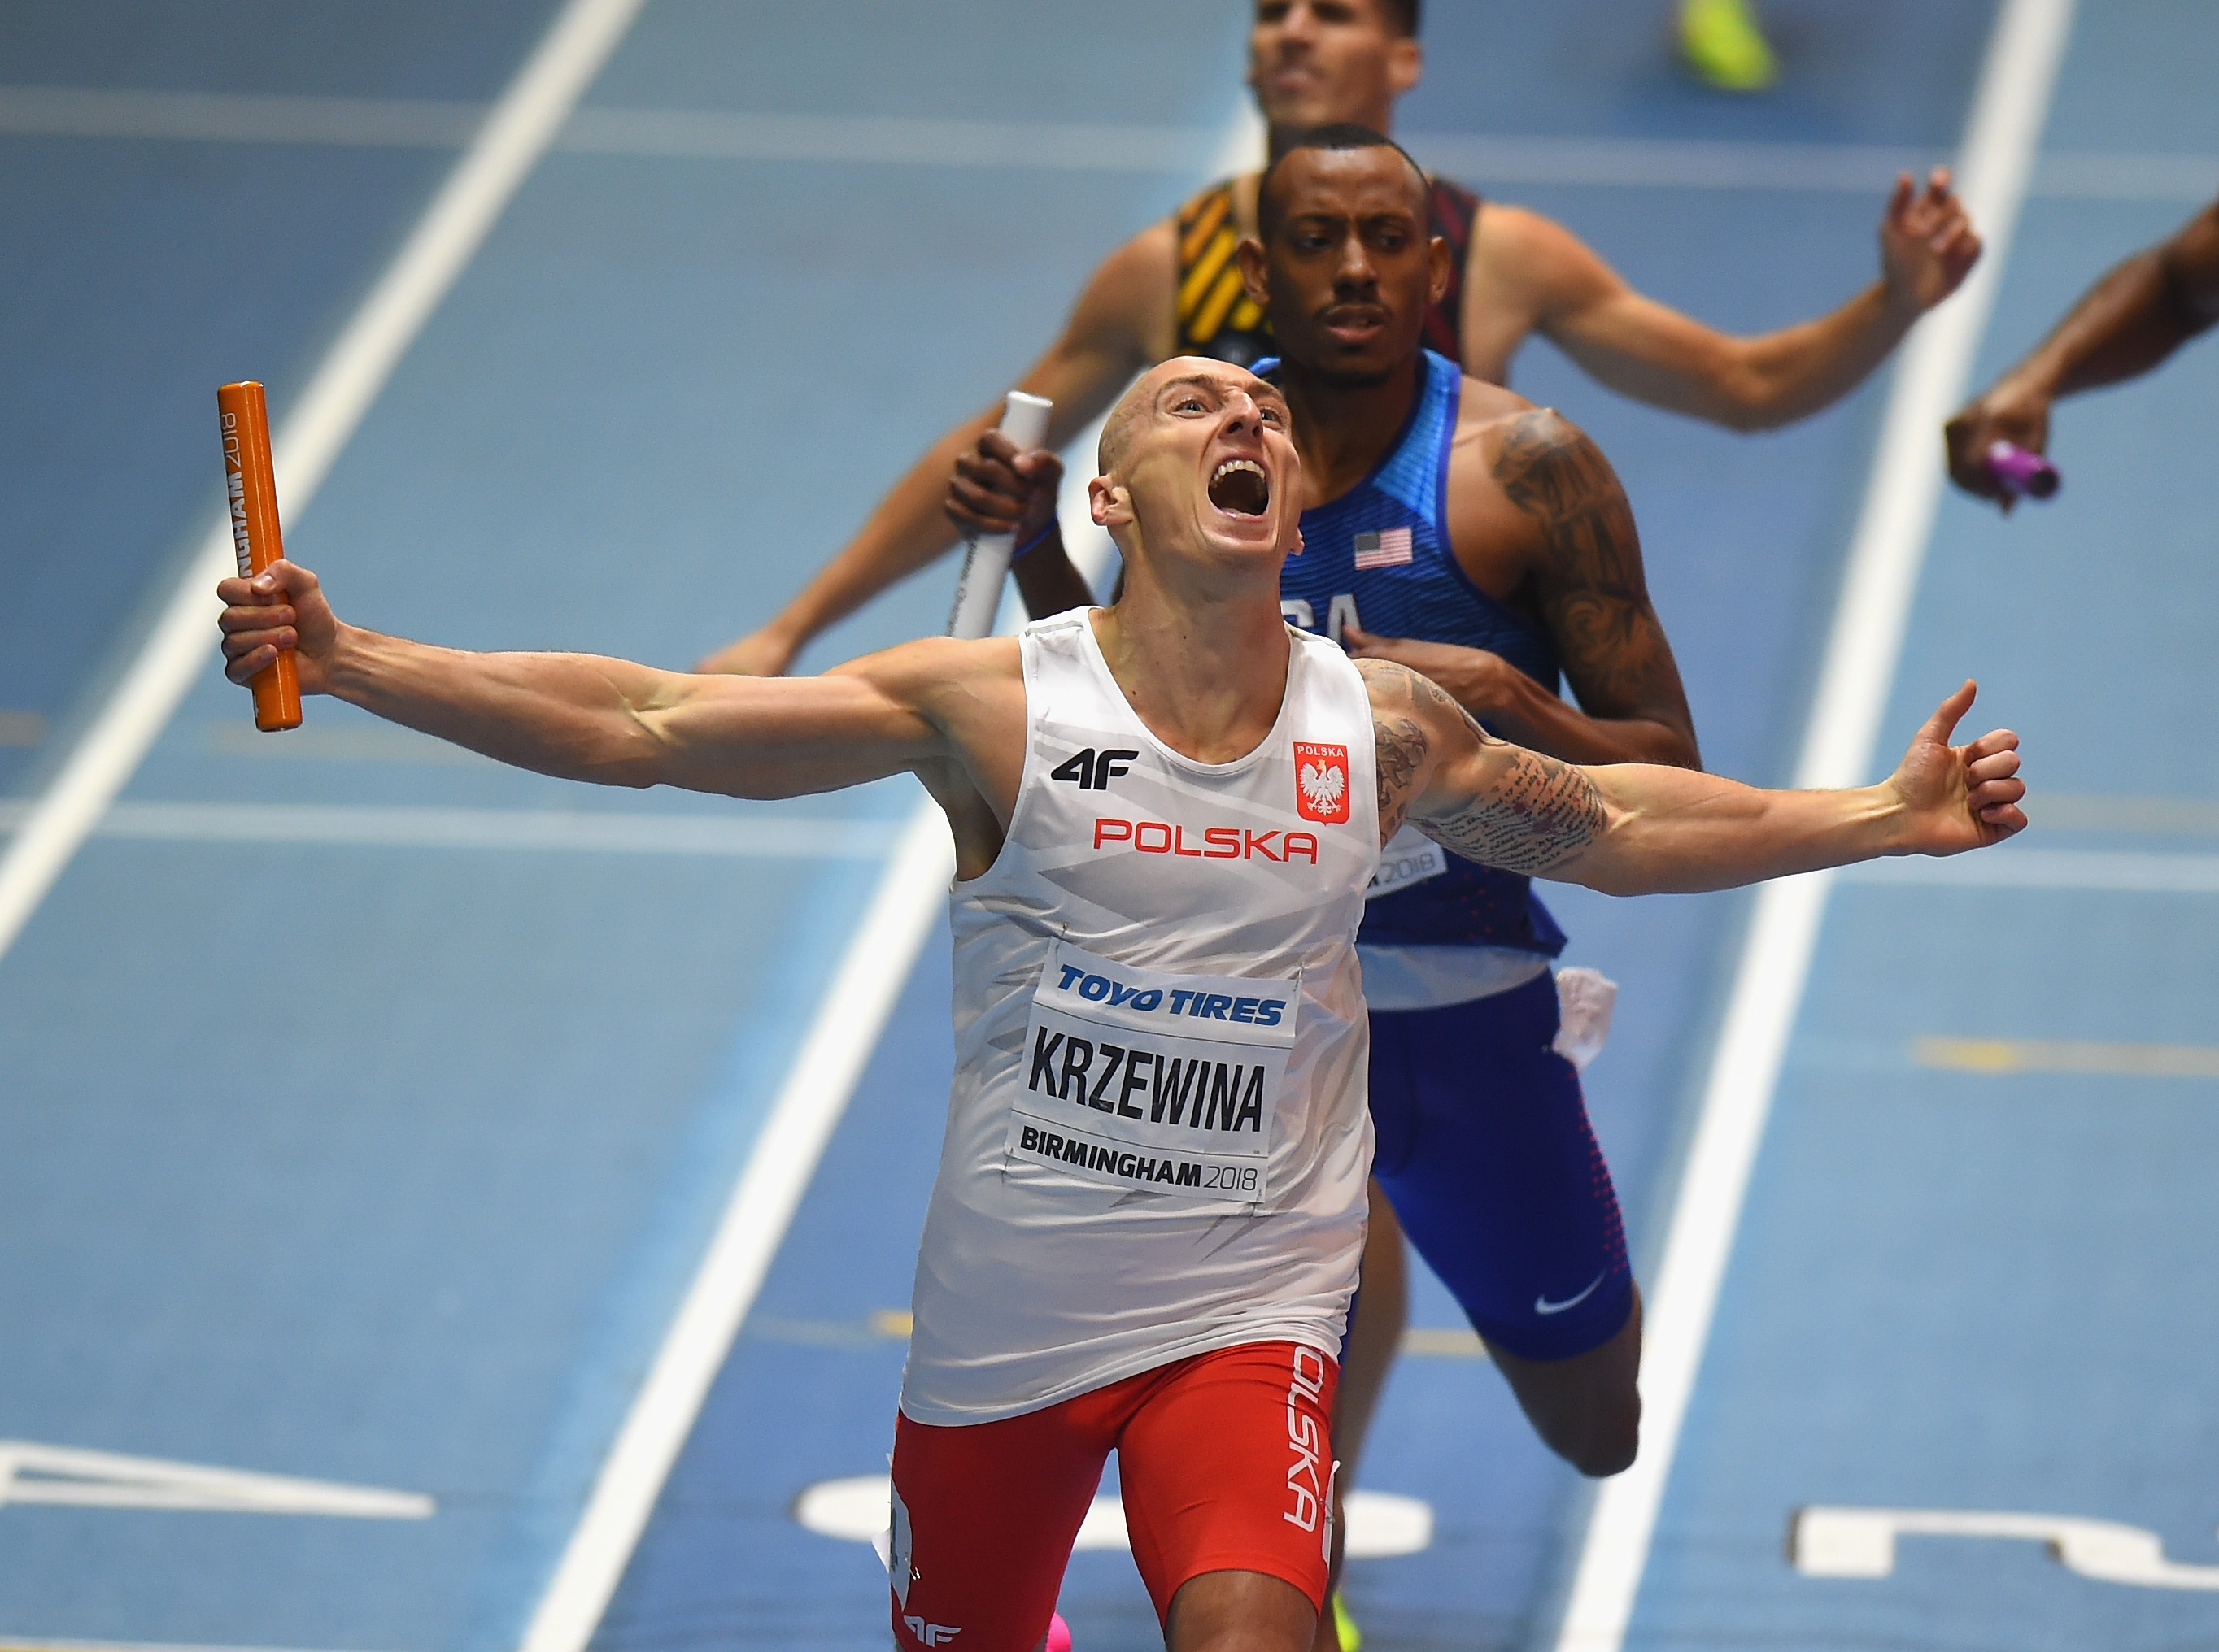
[[[0,1503],[69,1508],[169,1508],[231,1515],[333,1515],[340,1519],[430,1519],[433,1499],[328,1479],[251,1475],[242,1468],[122,1457],[111,1450],[0,1439]]]

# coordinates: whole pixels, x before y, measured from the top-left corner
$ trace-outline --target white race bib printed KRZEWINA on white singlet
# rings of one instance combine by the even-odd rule
[[[1056,942],[1032,993],[1010,1158],[1260,1206],[1298,982],[1174,976]]]

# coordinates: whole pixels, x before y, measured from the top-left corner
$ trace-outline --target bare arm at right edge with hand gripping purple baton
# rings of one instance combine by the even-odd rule
[[[2132,379],[2219,322],[2219,202],[2175,235],[2119,264],[2050,335],[1948,421],[1948,472],[1959,488],[2010,508],[1982,463],[1995,441],[2050,446],[2050,404]]]

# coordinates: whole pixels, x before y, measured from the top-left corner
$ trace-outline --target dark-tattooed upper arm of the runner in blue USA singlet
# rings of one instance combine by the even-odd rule
[[[1591,716],[1653,716],[1693,736],[1680,667],[1649,603],[1633,508],[1602,450],[1538,408],[1511,421],[1493,477],[1540,528],[1536,594],[1580,705]]]

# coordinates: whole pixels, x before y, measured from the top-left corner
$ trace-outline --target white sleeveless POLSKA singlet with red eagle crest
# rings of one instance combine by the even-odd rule
[[[1234,763],[1165,747],[1087,610],[1027,625],[1025,772],[952,896],[956,1078],[901,1410],[983,1424],[1249,1342],[1338,1355],[1371,1113],[1371,701],[1289,632]]]

